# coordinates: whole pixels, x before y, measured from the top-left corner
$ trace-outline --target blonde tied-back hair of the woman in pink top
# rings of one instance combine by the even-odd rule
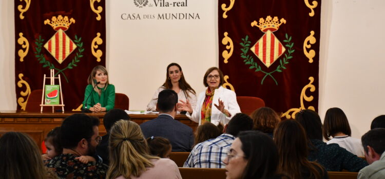
[[[160,159],[149,154],[142,130],[132,121],[120,120],[112,126],[108,146],[110,166],[107,179],[120,175],[138,177],[147,167],[153,167],[150,159]]]

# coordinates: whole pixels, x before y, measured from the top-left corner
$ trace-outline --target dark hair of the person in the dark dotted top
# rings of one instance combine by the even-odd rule
[[[300,110],[295,117],[295,120],[305,129],[307,139],[322,140],[322,122],[316,111],[310,109]]]

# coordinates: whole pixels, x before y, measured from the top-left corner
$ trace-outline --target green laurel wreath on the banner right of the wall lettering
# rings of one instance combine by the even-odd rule
[[[294,53],[294,49],[293,49],[294,43],[291,42],[292,37],[291,36],[289,37],[287,34],[285,35],[285,37],[286,39],[283,41],[286,42],[285,47],[288,48],[287,53],[285,53],[285,56],[282,59],[279,59],[280,64],[277,66],[277,69],[275,69],[272,72],[263,71],[261,69],[261,66],[254,61],[254,58],[247,54],[248,50],[250,49],[249,47],[251,46],[251,43],[252,43],[251,41],[248,40],[248,35],[246,35],[245,38],[242,38],[243,42],[239,43],[243,47],[241,49],[242,51],[241,58],[243,58],[243,62],[245,62],[245,64],[251,65],[249,69],[255,69],[255,72],[262,72],[265,74],[265,76],[261,80],[261,84],[263,84],[263,81],[266,79],[267,76],[269,76],[274,80],[275,84],[278,85],[277,80],[273,77],[272,74],[274,72],[282,72],[283,69],[286,69],[285,64],[289,63],[288,59],[293,58],[292,54]]]

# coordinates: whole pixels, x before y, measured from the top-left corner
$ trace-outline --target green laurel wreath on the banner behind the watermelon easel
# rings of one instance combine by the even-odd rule
[[[43,41],[44,41],[44,39],[42,39],[41,35],[39,35],[39,38],[35,39],[35,44],[37,47],[35,47],[34,53],[35,53],[35,57],[37,58],[37,61],[39,61],[39,63],[43,64],[43,68],[48,67],[49,69],[56,70],[57,72],[56,72],[55,76],[57,76],[59,73],[63,74],[64,78],[66,79],[66,81],[68,83],[68,79],[67,79],[66,75],[63,73],[63,71],[67,70],[67,69],[73,69],[73,66],[78,66],[78,65],[76,65],[76,63],[79,62],[80,61],[79,59],[83,57],[82,53],[84,52],[82,37],[80,37],[78,39],[78,36],[75,35],[75,40],[73,40],[73,41],[75,42],[76,46],[78,47],[78,52],[76,52],[76,56],[73,57],[72,61],[69,62],[68,65],[66,66],[66,68],[64,68],[64,69],[57,69],[57,68],[55,68],[55,65],[53,65],[53,63],[46,60],[46,58],[42,54]]]

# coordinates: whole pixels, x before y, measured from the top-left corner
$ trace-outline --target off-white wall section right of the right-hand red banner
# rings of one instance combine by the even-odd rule
[[[322,1],[319,114],[340,107],[360,138],[385,114],[383,0]]]

